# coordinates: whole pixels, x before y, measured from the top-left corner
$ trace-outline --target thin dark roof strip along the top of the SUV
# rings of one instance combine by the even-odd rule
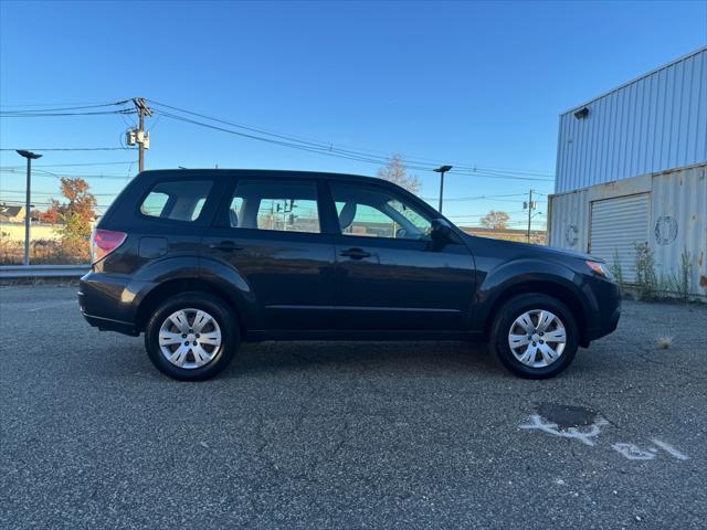
[[[178,178],[203,178],[203,177],[249,177],[254,179],[323,179],[323,180],[346,180],[373,183],[391,184],[387,180],[377,177],[365,177],[361,174],[330,173],[325,171],[295,171],[288,169],[149,169],[138,174],[138,178],[156,177],[178,177]]]

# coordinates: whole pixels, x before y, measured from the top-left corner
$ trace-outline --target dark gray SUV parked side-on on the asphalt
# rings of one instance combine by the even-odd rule
[[[208,379],[241,341],[484,339],[525,378],[616,328],[606,265],[473,237],[379,179],[262,170],[136,177],[93,235],[78,300],[145,332],[166,374]]]

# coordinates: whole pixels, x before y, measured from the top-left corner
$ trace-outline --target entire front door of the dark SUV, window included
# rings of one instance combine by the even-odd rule
[[[474,259],[461,243],[432,243],[431,219],[389,188],[333,182],[335,324],[341,329],[464,329]]]

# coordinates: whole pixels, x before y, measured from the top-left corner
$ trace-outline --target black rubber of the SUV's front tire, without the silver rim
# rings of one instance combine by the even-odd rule
[[[563,324],[566,332],[564,350],[551,364],[534,368],[520,362],[514,356],[508,344],[508,333],[515,320],[526,311],[534,309],[549,310]],[[548,379],[562,372],[570,365],[579,348],[579,327],[577,318],[569,308],[557,298],[539,293],[518,295],[497,311],[488,338],[489,350],[496,353],[498,360],[516,375],[525,379]]]

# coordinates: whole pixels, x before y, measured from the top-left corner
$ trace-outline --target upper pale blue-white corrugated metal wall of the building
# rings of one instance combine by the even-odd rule
[[[707,47],[560,116],[556,193],[707,162]]]

